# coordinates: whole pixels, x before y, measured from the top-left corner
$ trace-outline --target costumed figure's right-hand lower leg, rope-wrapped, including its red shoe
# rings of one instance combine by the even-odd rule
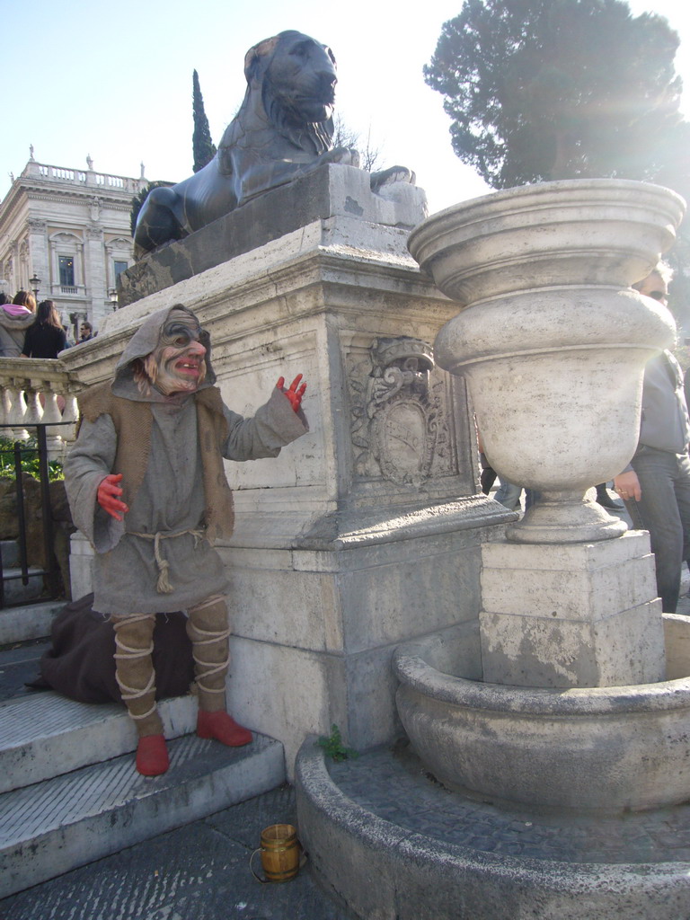
[[[224,597],[210,597],[190,608],[187,634],[192,643],[199,693],[197,734],[230,747],[252,740],[251,732],[225,711],[225,675],[230,662],[227,607]]]

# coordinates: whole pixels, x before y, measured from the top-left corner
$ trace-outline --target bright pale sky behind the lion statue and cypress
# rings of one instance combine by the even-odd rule
[[[657,12],[681,36],[676,70],[690,118],[690,4],[629,0]],[[179,181],[191,175],[192,71],[201,82],[213,142],[244,98],[247,49],[283,29],[330,45],[338,61],[336,111],[381,150],[383,166],[417,174],[430,213],[489,191],[454,155],[443,97],[424,83],[443,23],[462,0],[0,0],[0,200],[29,159]]]

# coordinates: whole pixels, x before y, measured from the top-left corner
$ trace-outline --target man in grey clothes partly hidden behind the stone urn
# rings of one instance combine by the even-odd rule
[[[660,263],[633,287],[665,304],[671,277]],[[661,351],[645,368],[638,449],[614,485],[633,526],[650,532],[657,591],[668,614],[675,613],[690,551],[689,438],[683,372],[670,351]]]

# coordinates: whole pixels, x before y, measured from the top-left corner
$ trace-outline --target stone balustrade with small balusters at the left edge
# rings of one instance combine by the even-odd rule
[[[0,358],[0,433],[26,441],[32,425],[48,424],[50,459],[62,460],[75,440],[76,395],[83,388],[59,358]]]

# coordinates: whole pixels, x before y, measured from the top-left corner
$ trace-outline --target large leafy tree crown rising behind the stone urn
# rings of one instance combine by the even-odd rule
[[[621,0],[466,0],[424,75],[455,153],[493,188],[654,180],[686,136],[678,45],[666,19]]]

